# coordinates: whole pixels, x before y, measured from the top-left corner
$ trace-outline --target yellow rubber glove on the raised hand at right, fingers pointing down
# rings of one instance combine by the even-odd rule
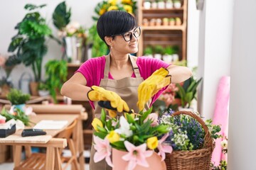
[[[139,111],[144,109],[144,106],[149,99],[154,96],[160,89],[171,84],[171,75],[164,68],[157,69],[150,77],[145,79],[138,88]]]

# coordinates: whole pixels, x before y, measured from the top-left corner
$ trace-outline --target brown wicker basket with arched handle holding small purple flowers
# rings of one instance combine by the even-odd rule
[[[195,118],[200,123],[205,131],[204,145],[202,149],[196,149],[192,151],[174,151],[171,154],[166,154],[167,170],[209,170],[210,159],[213,153],[214,145],[213,139],[210,137],[208,127],[198,115],[188,111],[178,111],[175,115],[189,115]]]

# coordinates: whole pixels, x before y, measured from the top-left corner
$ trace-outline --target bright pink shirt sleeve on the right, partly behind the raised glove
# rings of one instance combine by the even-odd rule
[[[138,57],[137,65],[139,67],[139,73],[141,74],[142,78],[145,80],[153,74],[156,69],[160,69],[164,67],[165,69],[169,67],[171,64],[167,64],[166,62],[151,58],[151,57]],[[157,98],[167,89],[167,86],[160,89],[151,99],[150,107],[156,101]]]

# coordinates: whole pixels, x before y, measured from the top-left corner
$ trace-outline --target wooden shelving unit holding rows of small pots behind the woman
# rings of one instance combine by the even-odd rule
[[[137,56],[142,56],[147,45],[178,45],[179,60],[186,60],[187,10],[188,0],[181,1],[181,8],[149,8],[143,6],[144,0],[138,1],[138,23],[142,26]],[[181,18],[181,26],[143,26],[143,19]]]

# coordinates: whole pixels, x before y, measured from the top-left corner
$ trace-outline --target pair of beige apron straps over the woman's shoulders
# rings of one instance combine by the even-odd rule
[[[104,79],[108,79],[109,72],[110,72],[110,55],[107,55],[105,59],[106,59],[106,63],[105,63],[105,69],[104,69]],[[133,60],[131,55],[129,55],[129,60],[132,63],[132,69],[134,71],[135,77],[137,78],[141,77],[139,73],[139,67],[137,66],[136,62]]]

